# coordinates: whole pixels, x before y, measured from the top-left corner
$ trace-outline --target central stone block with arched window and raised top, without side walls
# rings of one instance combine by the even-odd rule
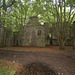
[[[45,27],[40,25],[37,17],[30,18],[28,25],[20,31],[21,46],[45,47]]]

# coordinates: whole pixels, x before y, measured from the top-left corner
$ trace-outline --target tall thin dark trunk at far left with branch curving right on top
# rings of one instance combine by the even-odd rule
[[[0,6],[0,8],[2,8],[3,7],[3,10],[4,10],[4,12],[3,12],[3,18],[2,18],[2,24],[1,24],[1,31],[2,31],[2,44],[4,45],[4,43],[5,43],[5,28],[4,28],[4,25],[5,25],[5,12],[7,11],[7,8],[8,7],[10,7],[10,6],[12,6],[13,5],[13,3],[15,2],[15,0],[10,0],[9,1],[9,3],[8,3],[8,5],[6,5],[5,4],[5,0],[3,0],[3,5],[2,6]]]

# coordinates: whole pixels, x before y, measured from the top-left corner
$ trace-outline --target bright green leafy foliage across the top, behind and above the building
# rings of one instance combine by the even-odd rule
[[[1,0],[2,1],[2,0]],[[1,5],[0,1],[0,5]],[[6,0],[6,4],[8,4],[10,0]],[[11,8],[8,8],[11,11],[5,12],[1,8],[1,16],[2,21],[5,19],[5,26],[7,29],[9,27],[12,28],[13,31],[19,31],[23,25],[28,23],[28,18],[31,16],[40,15],[39,22],[47,22],[49,24],[55,23],[57,20],[57,12],[54,8],[53,0],[16,0]],[[73,6],[75,4],[74,0],[65,0],[66,7]],[[64,7],[64,2],[62,3],[62,7]],[[73,8],[72,8],[73,9]],[[57,10],[59,7],[57,6]],[[3,17],[2,13],[5,12],[5,16]],[[61,16],[60,11],[59,16]],[[62,13],[64,9],[62,9]],[[54,16],[55,15],[55,21]],[[68,21],[69,10],[66,10],[66,21]],[[72,14],[73,15],[73,14]],[[71,20],[71,18],[70,18]],[[64,22],[64,14],[62,15],[62,21]],[[37,25],[37,24],[36,24]]]

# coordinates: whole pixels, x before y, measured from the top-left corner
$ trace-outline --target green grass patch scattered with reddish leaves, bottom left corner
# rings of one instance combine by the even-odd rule
[[[0,75],[19,75],[20,73],[25,74],[22,65],[11,61],[0,60]]]

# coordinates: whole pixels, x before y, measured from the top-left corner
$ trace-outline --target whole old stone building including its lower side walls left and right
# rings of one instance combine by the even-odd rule
[[[58,45],[57,39],[52,34],[53,29],[48,25],[41,25],[37,17],[31,17],[29,23],[24,25],[18,32],[12,32],[7,35],[5,31],[5,46],[38,46]],[[2,39],[0,29],[0,41]],[[71,45],[69,39],[65,45]]]

